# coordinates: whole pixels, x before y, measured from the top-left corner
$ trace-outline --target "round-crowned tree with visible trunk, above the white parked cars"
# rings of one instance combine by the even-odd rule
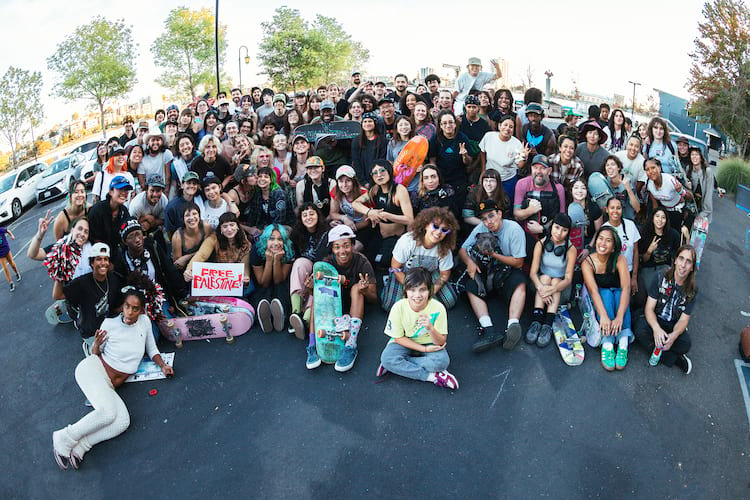
[[[77,27],[47,58],[47,67],[59,77],[54,94],[68,100],[93,100],[104,135],[104,105],[130,92],[136,83],[136,47],[130,26],[123,20],[97,16]]]

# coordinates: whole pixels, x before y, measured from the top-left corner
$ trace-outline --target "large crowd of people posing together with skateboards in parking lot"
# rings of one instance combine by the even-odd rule
[[[624,369],[635,341],[690,373],[699,255],[689,242],[695,219],[711,220],[714,191],[703,152],[673,143],[662,119],[633,124],[606,103],[550,130],[539,89],[517,110],[509,90],[485,89],[500,76],[492,64],[469,59],[455,89],[403,74],[389,89],[353,71],[348,88],[232,89],[159,110],[156,125],[126,118],[125,134],[99,146],[93,205],[73,183],[28,249],[54,283],[48,317],[74,320],[88,354],[75,375],[94,410],[53,434],[60,467],[127,428],[115,389],[144,351],[173,374],[156,324],[179,314],[195,262],[242,263],[260,329],[303,340],[308,369],[321,364],[312,269],[322,260],[343,277],[340,372],[355,364],[368,308],[383,307],[377,376],[457,389],[446,311],[462,295],[482,352],[521,339],[546,347],[559,306],[585,288],[604,369]],[[336,122],[356,135],[326,128]],[[319,133],[299,133],[306,124]],[[396,182],[416,136],[427,153]],[[505,324],[494,304],[507,307]]]

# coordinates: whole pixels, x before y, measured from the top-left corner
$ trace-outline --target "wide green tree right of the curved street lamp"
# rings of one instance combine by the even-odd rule
[[[279,7],[261,27],[258,60],[277,88],[330,83],[369,59],[332,17],[318,15],[310,26],[298,10]]]

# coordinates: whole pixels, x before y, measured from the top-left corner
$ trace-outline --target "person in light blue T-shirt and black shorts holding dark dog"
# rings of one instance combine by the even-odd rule
[[[521,338],[519,320],[526,302],[526,278],[521,271],[526,258],[526,237],[517,222],[503,220],[503,213],[493,200],[479,204],[479,219],[481,224],[471,231],[458,252],[466,266],[459,290],[466,291],[480,326],[480,337],[472,350],[486,351],[501,342],[504,349],[511,350]],[[480,248],[477,239],[483,233],[492,233],[495,240]],[[495,327],[490,317],[487,296],[493,291],[500,291],[509,303],[505,331]]]

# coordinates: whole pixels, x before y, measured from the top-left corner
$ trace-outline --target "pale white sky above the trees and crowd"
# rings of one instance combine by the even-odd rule
[[[629,102],[633,86],[645,96],[653,88],[689,97],[685,87],[689,57],[702,19],[703,0],[628,0],[626,2],[557,0],[455,1],[356,0],[283,2],[312,21],[316,14],[335,17],[352,38],[370,51],[364,75],[416,76],[420,67],[442,71],[442,64],[466,65],[469,57],[510,63],[510,78],[520,83],[530,65],[534,84],[544,88],[544,72],[554,73],[552,87],[568,91],[573,81],[587,93],[621,94]],[[242,63],[243,86],[265,81],[258,75],[260,23],[273,18],[273,2],[221,1],[219,20],[227,25],[224,70],[238,82],[238,51],[250,49],[250,64]],[[66,102],[50,96],[55,75],[47,57],[76,26],[95,15],[124,19],[138,45],[138,84],[130,97],[164,93],[154,78],[150,46],[161,33],[169,11],[178,6],[214,9],[214,1],[199,0],[0,0],[0,72],[9,66],[41,71],[45,125],[85,110],[86,102]],[[243,52],[244,56],[244,52]],[[344,83],[344,82],[340,82]]]

